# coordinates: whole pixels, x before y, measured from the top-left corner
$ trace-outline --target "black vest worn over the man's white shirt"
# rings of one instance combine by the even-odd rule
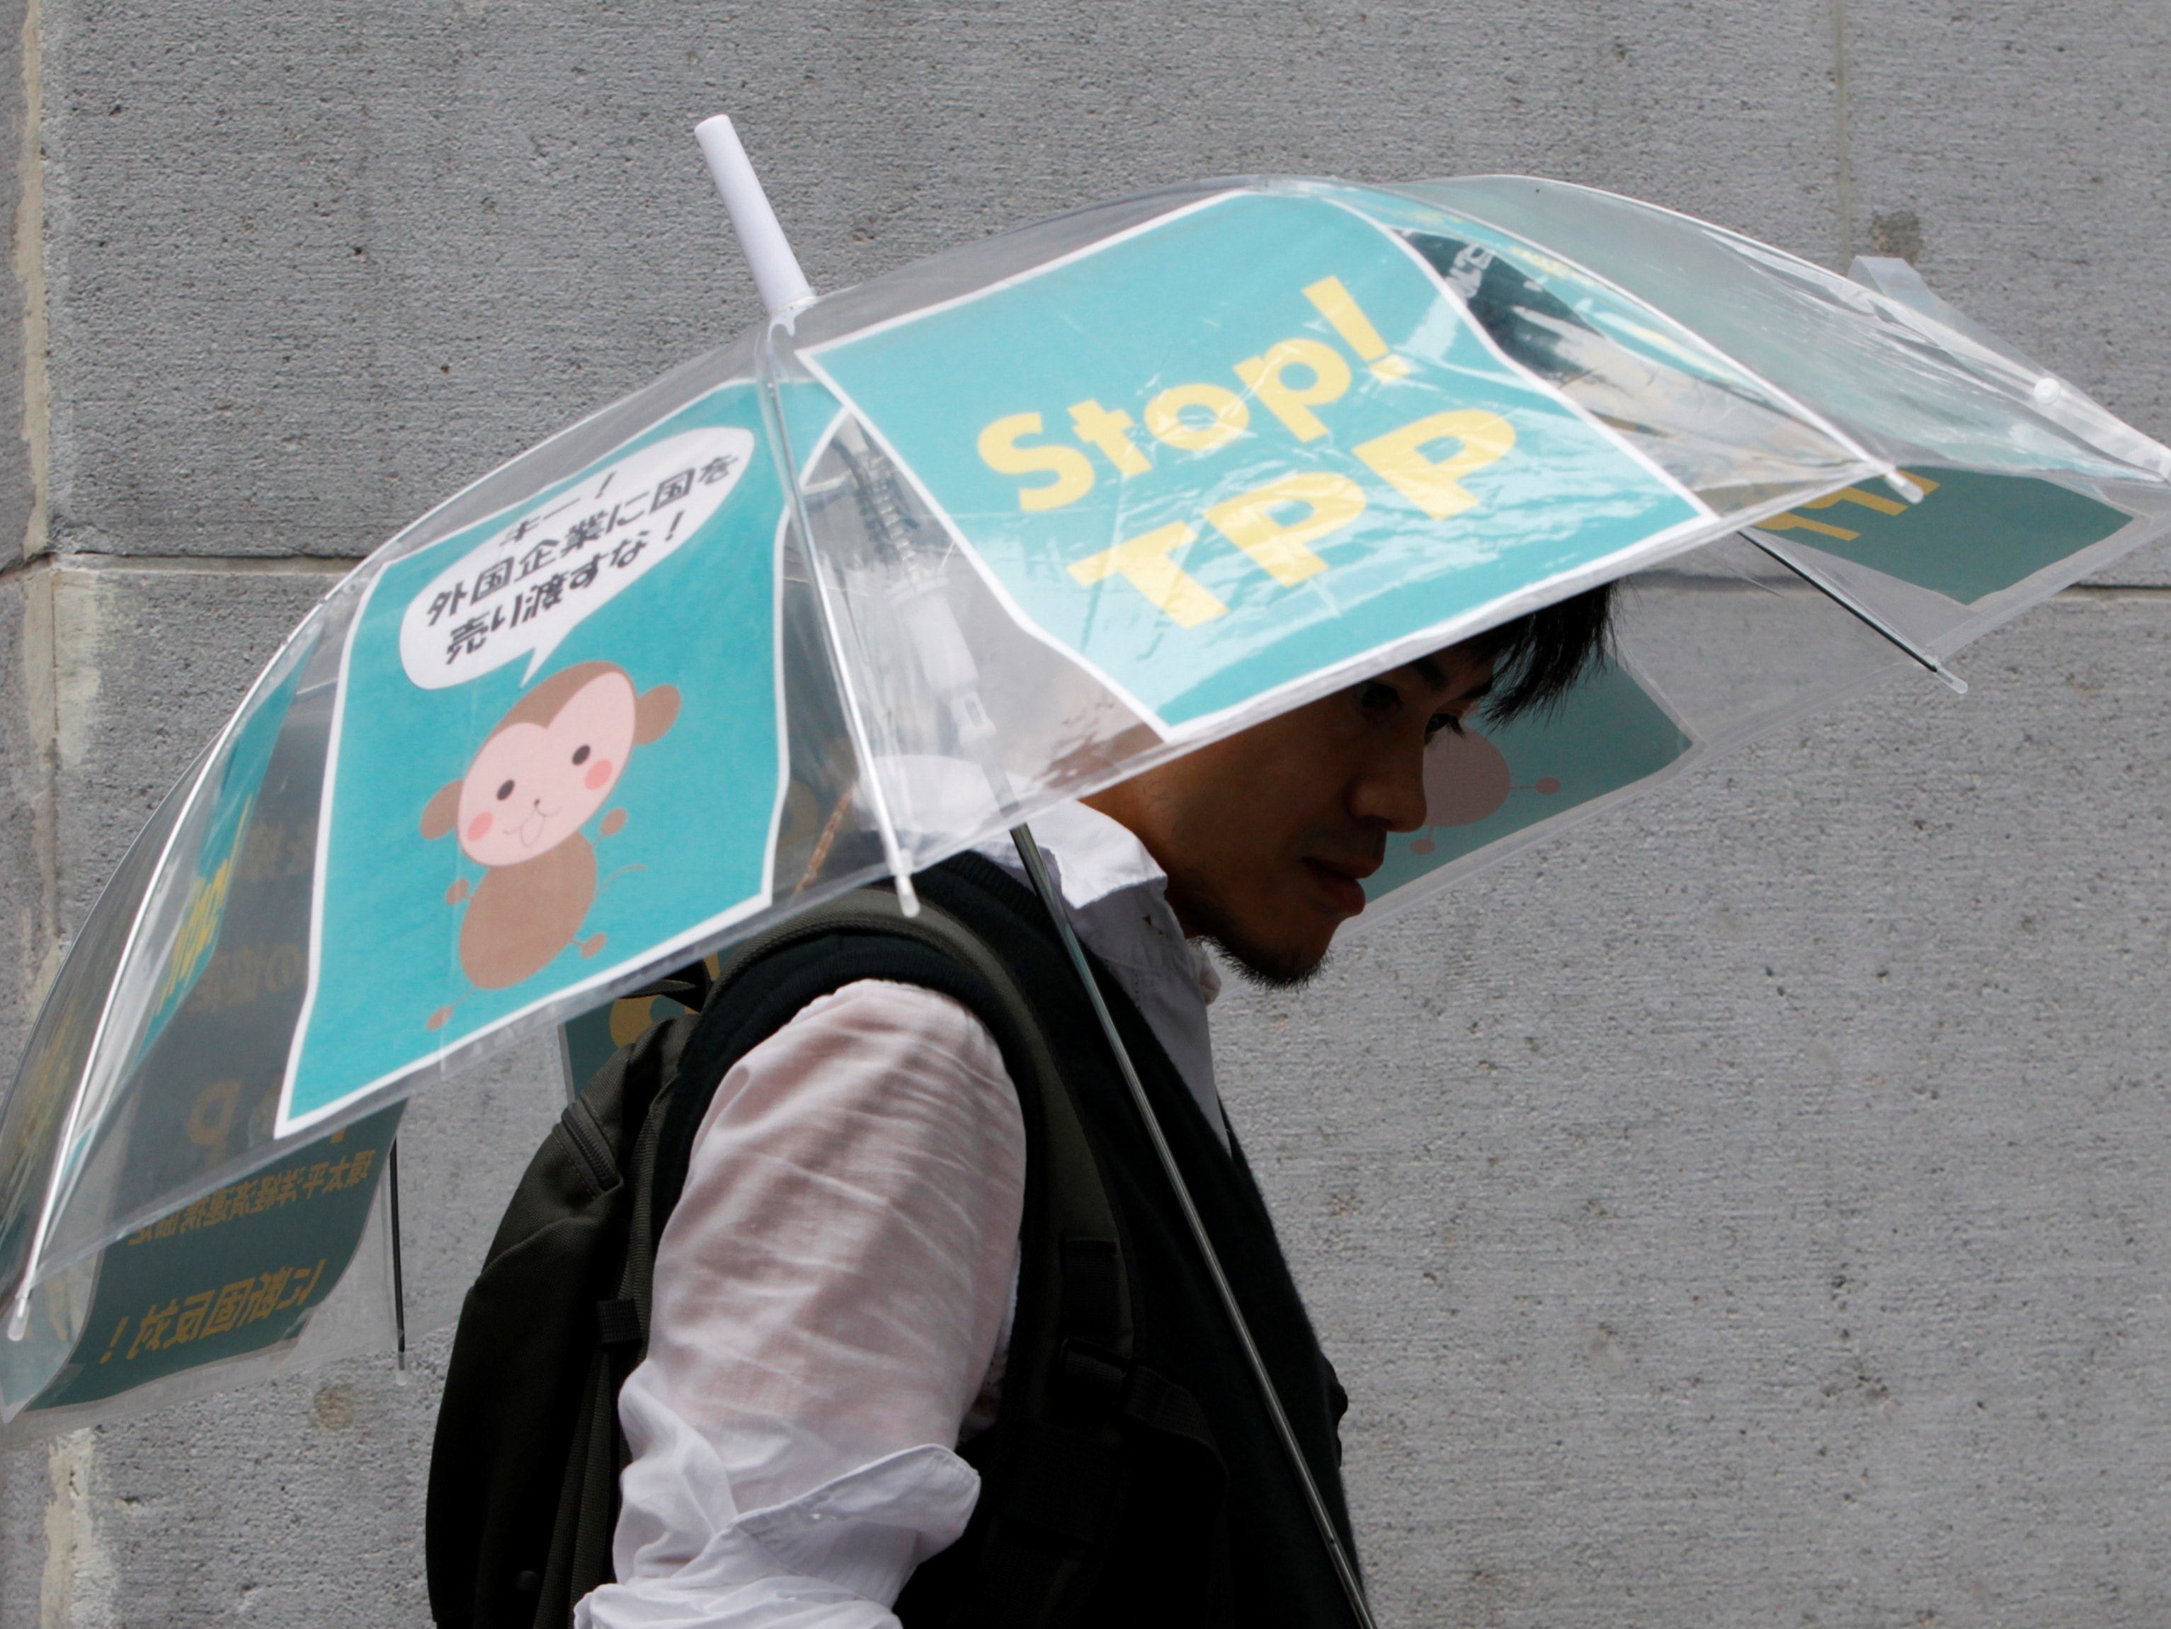
[[[1020,1034],[1005,1006],[953,960],[886,934],[831,934],[760,954],[727,999],[703,1012],[682,1062],[684,1075],[708,1082],[816,995],[888,977],[973,1008],[1018,1082],[1025,1266],[1003,1407],[996,1425],[962,1449],[981,1473],[973,1525],[914,1573],[899,1618],[907,1629],[1348,1625],[1303,1490],[1046,910],[973,854],[921,873],[916,884],[992,951],[1040,1036]],[[1122,986],[1099,962],[1094,973],[1355,1555],[1335,1436],[1346,1399],[1266,1203],[1242,1151],[1220,1147]],[[1068,1103],[1062,1112],[1038,1101],[1051,1086],[1031,1086],[1036,1051],[1053,1058],[1055,1090]],[[662,1132],[656,1171],[664,1210],[684,1182],[706,1103],[708,1093],[673,1103],[677,1125]],[[1090,1238],[1105,1225],[1051,1212],[1059,1184],[1049,1182],[1049,1136],[1077,1132],[1114,1218],[1114,1249]]]

